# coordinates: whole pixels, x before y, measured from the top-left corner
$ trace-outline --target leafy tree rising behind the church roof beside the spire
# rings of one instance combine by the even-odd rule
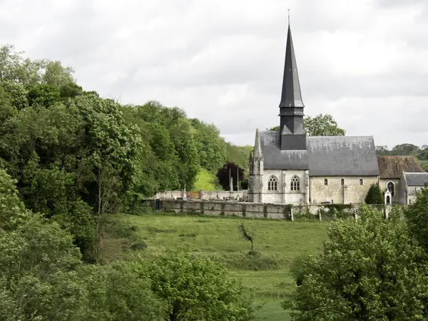
[[[307,136],[345,136],[345,129],[339,128],[332,115],[326,113],[315,117],[306,116],[303,118],[303,127],[305,127]],[[280,131],[280,126],[275,126],[269,131]]]

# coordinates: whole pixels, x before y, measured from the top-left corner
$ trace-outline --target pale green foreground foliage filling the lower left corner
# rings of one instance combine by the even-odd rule
[[[252,320],[222,265],[185,253],[85,265],[73,236],[26,210],[0,170],[0,320]]]

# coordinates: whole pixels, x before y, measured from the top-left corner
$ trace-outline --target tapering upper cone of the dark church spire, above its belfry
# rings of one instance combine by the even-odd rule
[[[285,49],[284,78],[282,80],[281,107],[304,107],[300,92],[296,56],[292,45],[290,11],[288,12],[287,47]]]

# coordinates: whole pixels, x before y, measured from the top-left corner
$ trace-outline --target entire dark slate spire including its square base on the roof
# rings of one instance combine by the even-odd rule
[[[303,128],[304,107],[292,45],[290,16],[288,16],[287,48],[285,49],[284,78],[280,102],[280,148],[282,151],[306,150],[306,133],[305,128]]]

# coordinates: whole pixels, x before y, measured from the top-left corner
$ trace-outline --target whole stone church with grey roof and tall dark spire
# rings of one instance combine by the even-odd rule
[[[405,184],[407,172],[425,173],[416,159],[378,159],[372,136],[306,136],[305,105],[290,24],[279,107],[280,131],[255,131],[254,152],[249,160],[249,202],[361,203],[370,185],[379,183],[385,203],[408,203],[397,192]],[[389,173],[390,168],[394,168],[393,174]],[[428,173],[419,175],[422,176],[419,184],[428,182]],[[401,189],[404,193],[408,188]]]

